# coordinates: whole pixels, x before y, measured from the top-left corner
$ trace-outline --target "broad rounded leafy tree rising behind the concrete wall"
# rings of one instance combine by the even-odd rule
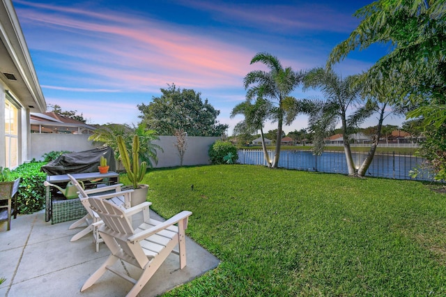
[[[175,84],[161,89],[161,93],[148,105],[138,105],[142,113],[139,118],[159,135],[174,135],[176,130],[183,129],[188,136],[220,136],[228,128],[216,120],[220,111],[207,99],[201,101],[201,93],[177,89]]]

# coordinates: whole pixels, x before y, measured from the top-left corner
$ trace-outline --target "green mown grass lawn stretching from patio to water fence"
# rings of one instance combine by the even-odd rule
[[[165,218],[192,211],[187,234],[222,261],[166,296],[446,294],[446,197],[424,183],[250,165],[144,183]]]

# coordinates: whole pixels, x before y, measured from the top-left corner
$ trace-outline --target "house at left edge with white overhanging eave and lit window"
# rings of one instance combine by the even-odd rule
[[[11,0],[0,3],[0,167],[30,160],[31,112],[47,104]]]

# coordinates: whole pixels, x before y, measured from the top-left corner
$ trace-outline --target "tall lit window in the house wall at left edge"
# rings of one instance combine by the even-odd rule
[[[5,104],[5,160],[6,167],[18,166],[18,111],[17,107],[6,98]]]

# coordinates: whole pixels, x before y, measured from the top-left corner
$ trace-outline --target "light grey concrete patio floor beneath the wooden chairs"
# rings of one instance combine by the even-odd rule
[[[151,212],[151,217],[157,215]],[[45,211],[40,211],[18,215],[10,231],[6,231],[6,222],[0,223],[0,278],[6,278],[0,284],[0,296],[125,296],[130,291],[130,282],[107,272],[91,288],[80,292],[89,275],[107,259],[109,250],[101,243],[100,251],[95,252],[91,234],[70,242],[81,230],[68,230],[72,222],[45,222]],[[187,266],[183,270],[179,269],[178,256],[171,254],[139,296],[160,295],[220,263],[190,238],[186,250]],[[140,272],[129,264],[124,267],[118,263],[115,268],[125,269],[134,277]]]

